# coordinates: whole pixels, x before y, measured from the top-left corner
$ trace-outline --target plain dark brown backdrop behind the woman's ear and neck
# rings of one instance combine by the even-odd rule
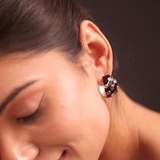
[[[85,0],[119,61],[130,98],[160,112],[160,0]]]

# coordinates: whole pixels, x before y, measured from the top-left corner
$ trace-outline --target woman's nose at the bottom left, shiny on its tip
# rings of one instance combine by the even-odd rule
[[[34,144],[22,144],[21,142],[2,140],[0,146],[0,160],[35,160],[39,149]]]

